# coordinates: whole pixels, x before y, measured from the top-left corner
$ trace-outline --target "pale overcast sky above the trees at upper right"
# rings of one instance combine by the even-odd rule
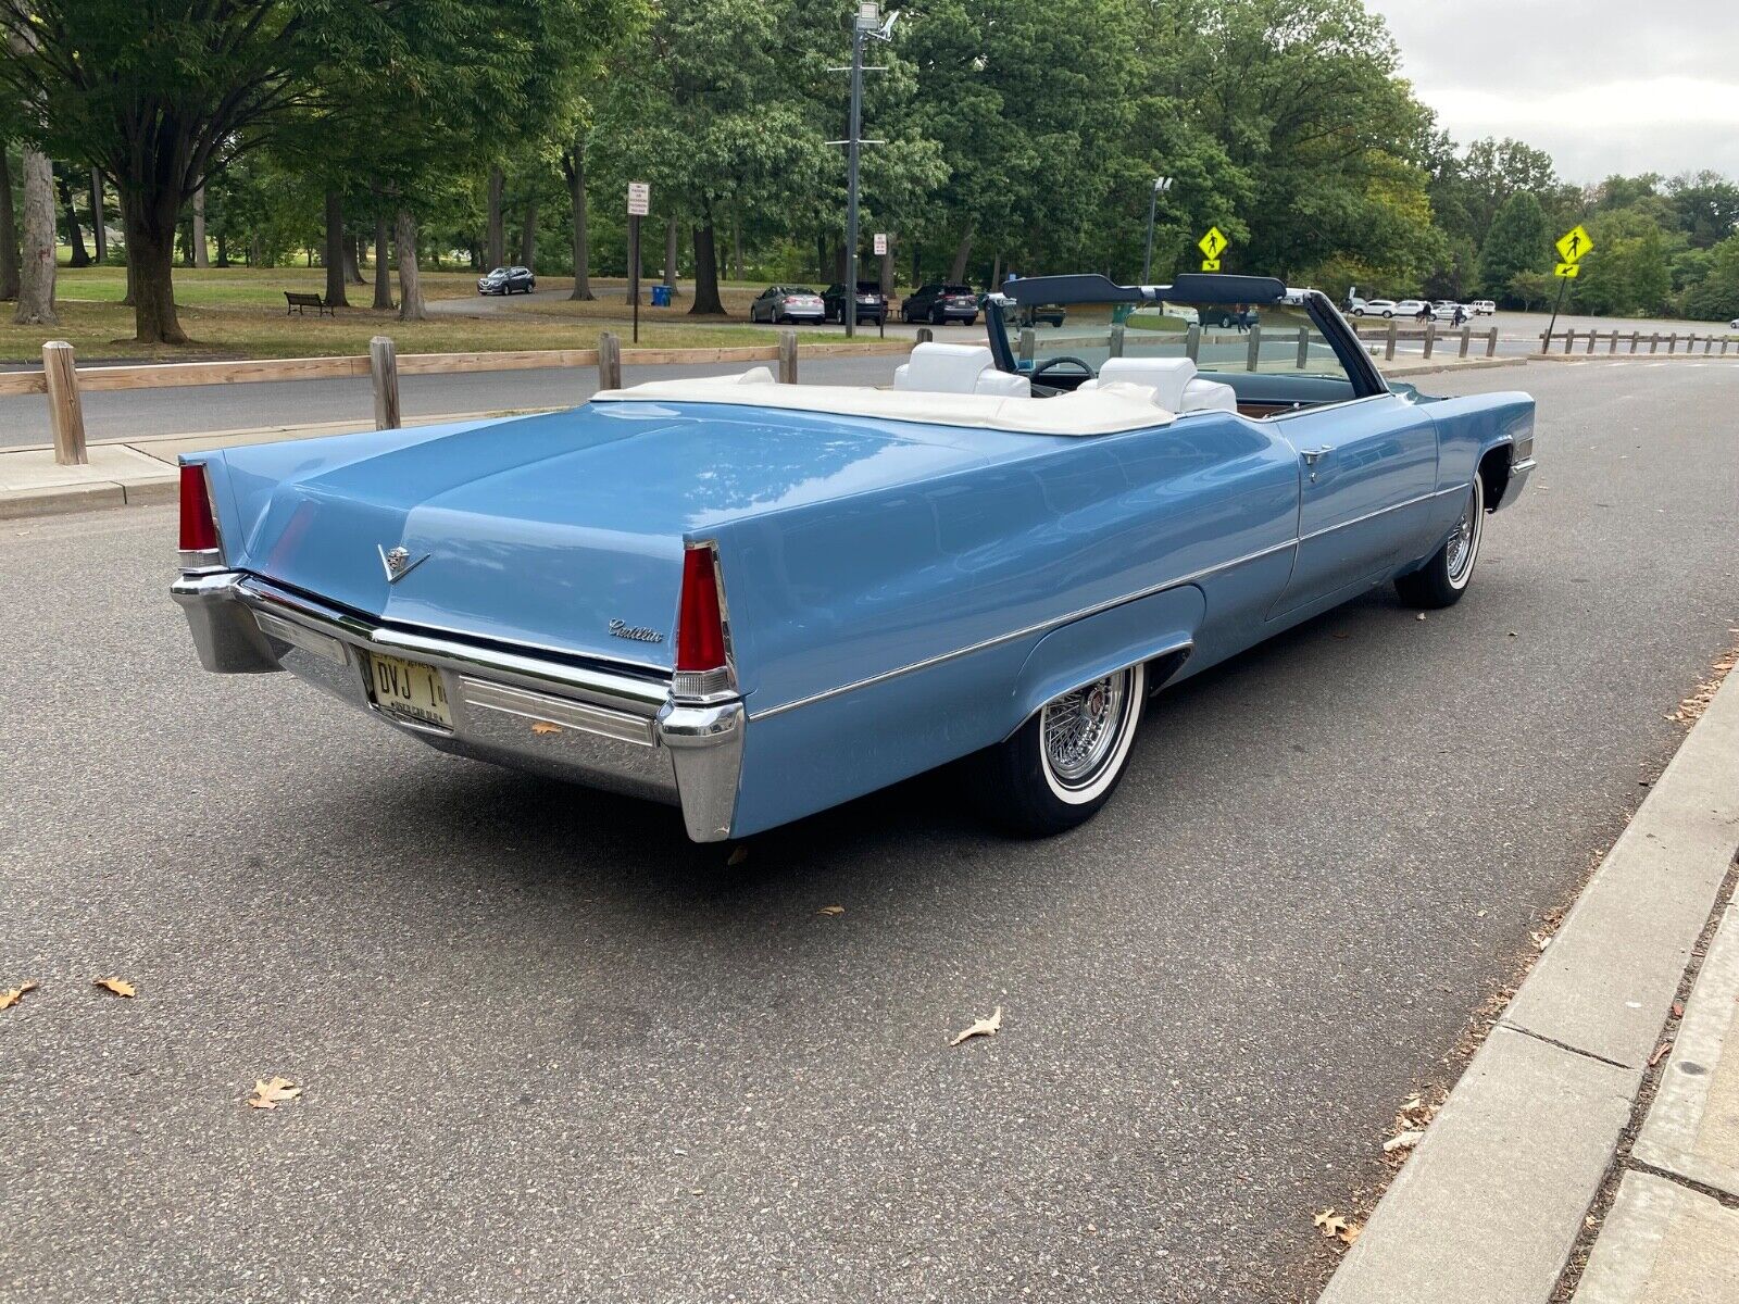
[[[1459,143],[1515,136],[1565,181],[1739,177],[1739,0],[1365,0]]]

